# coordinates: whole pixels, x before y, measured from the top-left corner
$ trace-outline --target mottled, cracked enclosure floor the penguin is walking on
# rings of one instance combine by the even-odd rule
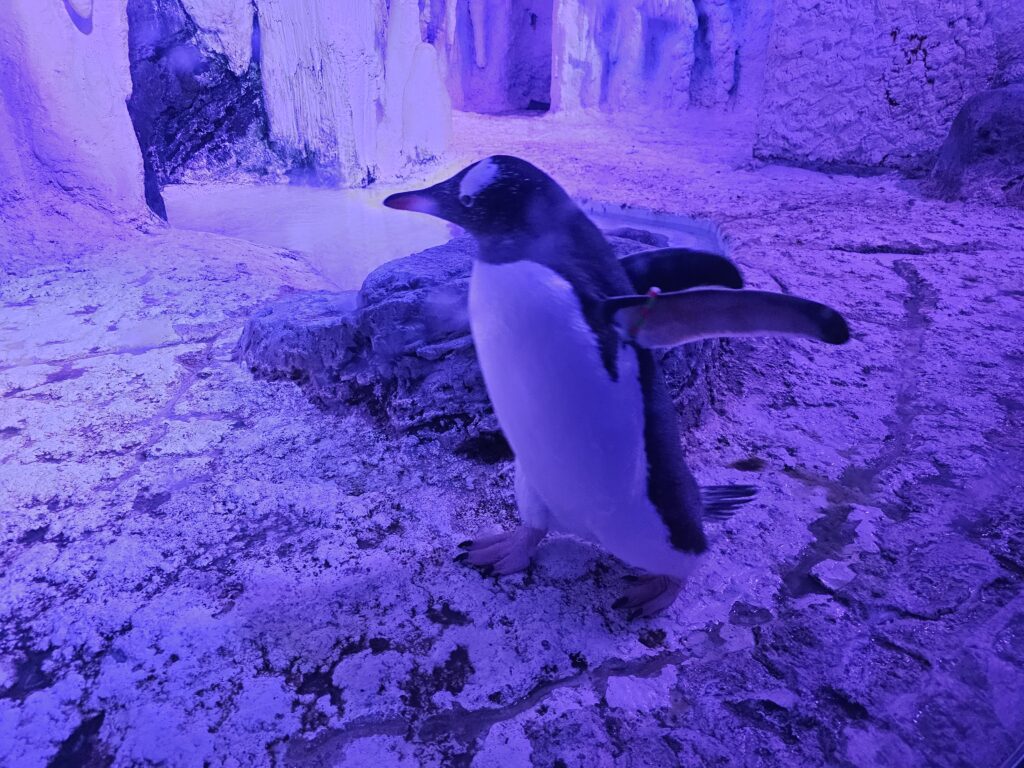
[[[686,430],[701,482],[757,500],[651,621],[569,539],[483,579],[452,558],[512,523],[509,466],[232,360],[249,312],[324,285],[308,265],[168,229],[26,245],[0,288],[0,765],[998,766],[1024,733],[1024,216],[761,167],[702,122],[456,133],[453,169],[512,153],[707,216],[751,286],[847,315],[845,347],[730,344]]]

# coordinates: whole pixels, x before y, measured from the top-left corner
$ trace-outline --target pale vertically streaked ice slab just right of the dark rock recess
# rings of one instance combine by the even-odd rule
[[[359,185],[443,152],[451,103],[436,56],[419,48],[417,0],[258,7],[270,136],[296,162]],[[414,135],[403,130],[407,111]]]

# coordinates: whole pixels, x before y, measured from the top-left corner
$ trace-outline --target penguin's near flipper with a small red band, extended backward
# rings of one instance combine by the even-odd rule
[[[672,347],[725,336],[805,336],[845,344],[842,314],[816,301],[765,291],[698,289],[618,296],[605,309],[627,336],[645,347]]]

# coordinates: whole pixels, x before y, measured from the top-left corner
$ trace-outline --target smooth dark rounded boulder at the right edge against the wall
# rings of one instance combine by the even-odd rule
[[[932,177],[947,198],[1024,207],[1024,85],[973,96],[953,121]]]

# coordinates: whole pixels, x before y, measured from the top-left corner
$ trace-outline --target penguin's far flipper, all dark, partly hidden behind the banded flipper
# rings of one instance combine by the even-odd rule
[[[652,288],[665,292],[685,291],[697,286],[742,288],[739,269],[725,256],[689,248],[659,248],[624,256],[625,267],[637,293]]]

